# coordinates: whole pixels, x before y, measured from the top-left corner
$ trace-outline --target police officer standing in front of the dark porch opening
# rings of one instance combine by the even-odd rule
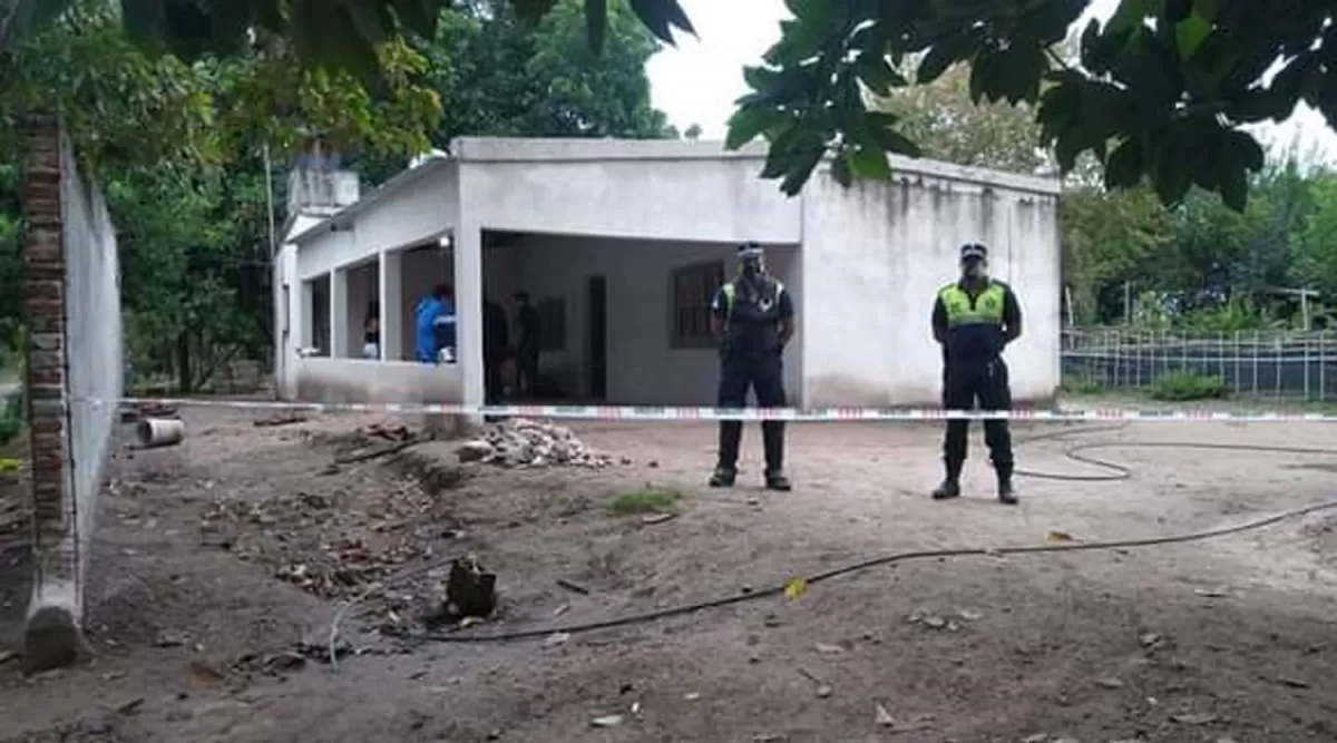
[[[762,408],[785,406],[781,357],[794,335],[794,303],[785,285],[766,274],[766,254],[754,242],[738,247],[738,277],[725,283],[710,303],[711,330],[719,343],[721,408],[743,408],[747,389]],[[766,449],[766,488],[789,490],[785,477],[785,424],[762,421]],[[719,462],[710,478],[713,488],[730,488],[738,476],[738,442],[742,421],[719,422]]]

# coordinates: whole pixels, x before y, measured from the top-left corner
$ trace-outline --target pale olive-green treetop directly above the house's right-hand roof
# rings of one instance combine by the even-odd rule
[[[1048,164],[1029,107],[975,103],[969,79],[969,67],[957,64],[932,83],[893,91],[872,106],[896,116],[924,156],[1028,174]]]

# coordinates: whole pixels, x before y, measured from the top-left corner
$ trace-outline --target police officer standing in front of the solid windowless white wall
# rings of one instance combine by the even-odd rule
[[[972,410],[1009,410],[1003,349],[1021,335],[1021,306],[1012,289],[988,275],[989,251],[979,243],[961,246],[961,279],[944,286],[933,303],[933,338],[943,346],[943,406]],[[961,494],[968,420],[947,422],[943,462],[947,478],[933,490],[935,500]],[[984,441],[997,474],[999,500],[1017,502],[1012,489],[1012,436],[1005,420],[984,421]]]

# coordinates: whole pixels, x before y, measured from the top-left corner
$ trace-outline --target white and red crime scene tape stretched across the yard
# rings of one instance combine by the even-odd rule
[[[497,418],[554,418],[578,421],[1229,421],[1229,422],[1337,422],[1337,413],[1275,410],[1223,412],[1185,409],[1091,410],[947,410],[936,408],[675,408],[642,405],[467,405],[431,402],[287,402],[271,400],[218,400],[198,397],[79,398],[100,405],[166,405],[312,413],[386,413],[429,416],[485,416]]]

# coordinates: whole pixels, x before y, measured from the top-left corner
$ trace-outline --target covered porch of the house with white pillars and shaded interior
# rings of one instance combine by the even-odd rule
[[[545,382],[527,400],[711,404],[707,307],[735,246],[767,245],[773,271],[801,291],[801,210],[755,178],[763,151],[523,139],[452,150],[290,239],[285,396],[481,405],[484,297],[513,347],[524,291],[541,318]],[[414,309],[436,285],[453,290],[456,363],[414,361]],[[786,354],[796,398],[801,342]],[[504,378],[515,392],[513,366]]]

